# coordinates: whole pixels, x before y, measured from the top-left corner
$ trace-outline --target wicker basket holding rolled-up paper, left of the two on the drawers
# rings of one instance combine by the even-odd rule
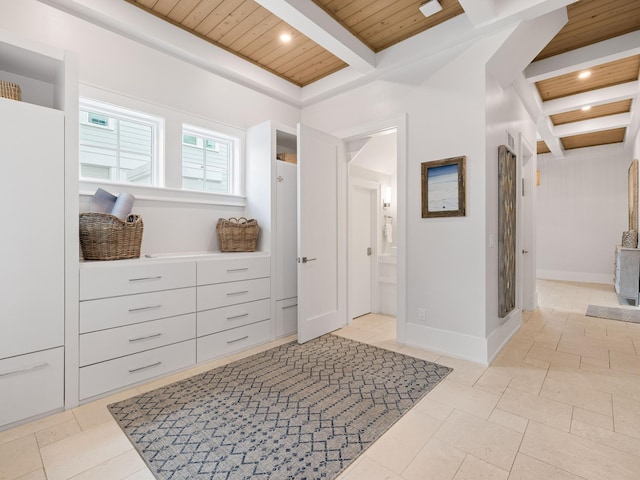
[[[139,215],[123,222],[108,213],[80,214],[80,247],[85,260],[138,258],[144,225]]]

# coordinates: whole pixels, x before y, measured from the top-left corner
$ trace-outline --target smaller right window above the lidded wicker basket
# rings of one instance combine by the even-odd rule
[[[233,194],[240,140],[198,127],[182,130],[182,188]]]

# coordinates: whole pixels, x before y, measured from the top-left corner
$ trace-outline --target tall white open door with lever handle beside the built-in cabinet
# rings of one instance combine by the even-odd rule
[[[298,342],[346,323],[342,141],[298,125]]]

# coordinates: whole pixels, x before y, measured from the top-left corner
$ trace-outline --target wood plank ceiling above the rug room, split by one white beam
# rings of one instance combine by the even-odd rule
[[[253,0],[125,1],[301,87],[347,66]],[[374,52],[463,13],[457,0],[441,0],[429,18],[419,11],[424,0],[314,2]]]

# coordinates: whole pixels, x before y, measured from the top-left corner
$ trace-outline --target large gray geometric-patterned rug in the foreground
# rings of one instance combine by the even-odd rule
[[[109,410],[161,480],[332,479],[451,371],[324,335]]]

